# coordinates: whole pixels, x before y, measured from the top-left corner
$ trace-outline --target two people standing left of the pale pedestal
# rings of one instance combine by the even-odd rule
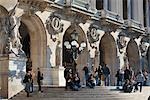
[[[35,74],[33,73],[32,69],[28,70],[24,79],[23,83],[25,84],[25,92],[27,93],[27,97],[29,97],[29,94],[33,92],[33,80],[34,80]],[[43,74],[40,71],[40,68],[37,68],[37,84],[38,84],[38,91],[42,92],[41,90],[41,84],[43,80]]]

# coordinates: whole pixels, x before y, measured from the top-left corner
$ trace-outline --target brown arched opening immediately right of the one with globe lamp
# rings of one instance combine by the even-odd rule
[[[100,65],[107,64],[110,69],[110,83],[115,85],[115,74],[118,69],[115,40],[110,33],[105,33],[100,41]]]

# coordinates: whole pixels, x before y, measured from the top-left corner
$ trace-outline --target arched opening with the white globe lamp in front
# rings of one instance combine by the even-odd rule
[[[77,35],[77,39],[73,38],[73,34]],[[76,41],[78,43],[78,47],[74,47],[72,45],[72,41]],[[70,48],[66,46],[66,41],[69,42]],[[81,50],[80,47],[82,47],[82,43],[84,44],[83,50]],[[73,72],[78,70],[80,76],[82,77],[82,69],[88,62],[88,49],[87,49],[87,40],[85,33],[78,25],[71,25],[65,32],[63,37],[63,66],[66,66],[67,68],[73,69]],[[82,79],[81,79],[82,80]]]

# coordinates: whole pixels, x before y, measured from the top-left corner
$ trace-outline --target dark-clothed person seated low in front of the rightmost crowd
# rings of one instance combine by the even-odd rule
[[[131,93],[133,89],[132,83],[127,79],[123,85],[123,91],[126,93]]]

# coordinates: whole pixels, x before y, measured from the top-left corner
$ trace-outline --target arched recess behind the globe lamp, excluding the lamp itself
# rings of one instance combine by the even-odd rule
[[[62,60],[63,62],[62,63],[64,66],[65,66],[65,62],[67,62],[68,64],[76,63],[76,69],[78,69],[78,71],[80,72],[80,76],[82,76],[82,69],[88,62],[89,52],[88,52],[87,46],[79,54],[79,56],[77,57],[77,59],[75,61],[73,60],[73,54],[70,52],[70,50],[67,50],[64,46],[65,41],[71,41],[71,33],[74,30],[76,30],[76,32],[78,33],[78,43],[80,44],[81,42],[84,41],[87,45],[87,39],[86,39],[86,35],[85,35],[83,29],[78,25],[71,25],[66,30],[66,32],[63,36],[63,46],[62,46],[63,47],[63,60]]]

